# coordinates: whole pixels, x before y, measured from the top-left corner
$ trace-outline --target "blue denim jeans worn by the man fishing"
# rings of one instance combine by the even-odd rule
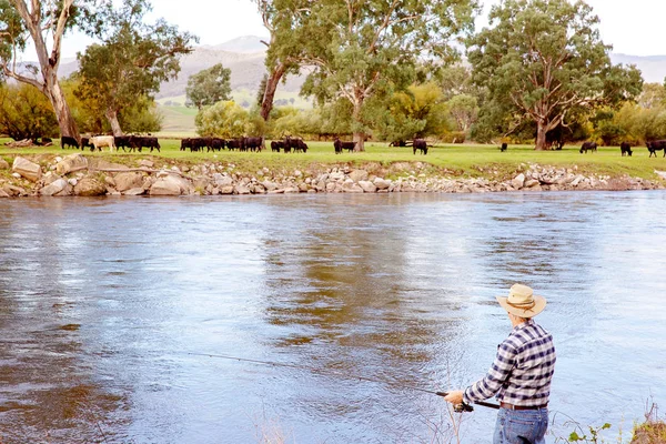
[[[493,444],[546,444],[547,428],[547,408],[500,408]]]

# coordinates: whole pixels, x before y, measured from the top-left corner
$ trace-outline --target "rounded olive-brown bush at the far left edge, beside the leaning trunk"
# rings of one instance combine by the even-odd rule
[[[30,84],[0,84],[0,134],[14,140],[57,137],[51,102]]]

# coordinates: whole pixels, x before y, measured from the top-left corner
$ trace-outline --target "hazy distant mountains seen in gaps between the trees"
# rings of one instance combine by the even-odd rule
[[[215,46],[200,46],[192,53],[181,58],[181,72],[178,79],[162,83],[157,99],[182,98],[185,95],[188,78],[213,64],[222,63],[231,69],[231,89],[245,90],[254,94],[259,89],[266,69],[264,67],[266,47],[265,38],[245,36]],[[666,56],[639,57],[612,53],[614,63],[635,64],[646,82],[663,83],[666,78]],[[77,60],[63,60],[60,75],[67,77],[78,69]],[[279,85],[283,92],[297,93],[305,80],[304,75],[290,75],[285,83]]]

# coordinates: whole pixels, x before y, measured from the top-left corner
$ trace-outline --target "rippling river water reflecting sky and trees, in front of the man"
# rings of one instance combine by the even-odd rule
[[[495,411],[422,390],[485,373],[514,282],[548,300],[548,442],[626,437],[666,407],[664,214],[658,191],[0,201],[0,442],[487,443]]]

